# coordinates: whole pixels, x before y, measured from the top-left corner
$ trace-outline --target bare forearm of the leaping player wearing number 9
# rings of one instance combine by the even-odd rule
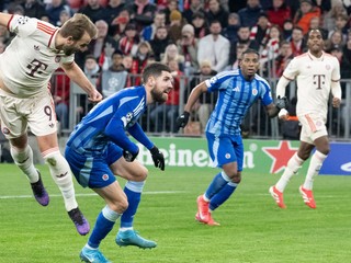
[[[63,64],[61,68],[65,70],[70,80],[72,80],[88,93],[88,99],[91,102],[99,102],[102,100],[100,92],[95,89],[95,87],[93,87],[93,84],[89,81],[87,76],[75,61],[71,64]]]

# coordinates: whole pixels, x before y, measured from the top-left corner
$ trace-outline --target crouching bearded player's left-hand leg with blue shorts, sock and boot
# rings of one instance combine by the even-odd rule
[[[109,262],[100,252],[99,247],[127,208],[126,195],[103,159],[103,155],[101,158],[84,157],[66,146],[65,158],[78,183],[83,187],[92,188],[106,203],[97,217],[89,240],[80,252],[80,259],[86,262]],[[112,156],[111,158],[118,157]]]

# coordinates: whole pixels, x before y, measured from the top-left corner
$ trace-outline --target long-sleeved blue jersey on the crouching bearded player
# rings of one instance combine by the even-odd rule
[[[147,149],[151,149],[152,142],[137,123],[146,108],[145,87],[121,90],[101,101],[82,118],[67,146],[78,153],[97,157],[113,142],[135,153],[138,147],[127,137],[125,132],[128,132]]]

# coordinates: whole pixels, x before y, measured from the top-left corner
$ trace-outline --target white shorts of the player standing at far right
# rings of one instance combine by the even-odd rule
[[[307,144],[314,145],[315,139],[322,136],[328,136],[325,121],[321,116],[316,114],[305,114],[298,116],[302,124],[299,139]]]

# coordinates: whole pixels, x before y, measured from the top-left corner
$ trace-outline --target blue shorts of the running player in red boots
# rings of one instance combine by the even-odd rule
[[[207,146],[214,167],[222,168],[230,162],[238,163],[238,171],[242,171],[244,145],[240,135],[219,135],[206,133]]]

